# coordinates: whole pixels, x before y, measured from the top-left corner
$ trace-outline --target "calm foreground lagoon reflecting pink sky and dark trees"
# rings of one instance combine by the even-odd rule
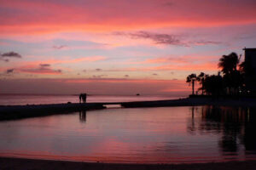
[[[0,122],[0,156],[180,163],[256,158],[256,110],[106,109]]]

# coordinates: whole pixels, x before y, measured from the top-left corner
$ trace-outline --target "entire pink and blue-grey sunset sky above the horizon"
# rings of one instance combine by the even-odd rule
[[[191,92],[256,48],[255,0],[0,0],[0,94]]]

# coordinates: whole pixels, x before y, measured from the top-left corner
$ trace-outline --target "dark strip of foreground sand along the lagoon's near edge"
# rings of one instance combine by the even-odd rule
[[[86,169],[86,170],[255,170],[256,161],[229,161],[218,163],[194,164],[113,164],[88,163],[76,161],[47,161],[21,158],[0,157],[1,170],[35,170],[35,169]]]

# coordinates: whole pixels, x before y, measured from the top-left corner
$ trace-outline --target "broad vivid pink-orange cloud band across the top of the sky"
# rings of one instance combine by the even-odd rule
[[[0,31],[2,34],[44,34],[59,31],[125,31],[167,26],[205,27],[256,23],[255,2],[251,0],[232,3],[221,0],[173,0],[171,6],[166,5],[166,2],[98,0],[69,3],[3,0],[0,7],[9,8],[9,13],[2,14]]]

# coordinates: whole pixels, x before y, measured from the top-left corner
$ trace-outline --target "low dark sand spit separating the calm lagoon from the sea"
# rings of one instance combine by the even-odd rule
[[[241,106],[255,107],[256,99],[211,99],[211,98],[186,98],[155,101],[136,102],[99,102],[99,103],[70,103],[49,105],[0,105],[0,121],[15,120],[26,117],[49,116],[55,114],[66,114],[75,111],[90,111],[105,109],[108,105],[120,105],[124,108],[139,107],[170,107],[170,106]]]

